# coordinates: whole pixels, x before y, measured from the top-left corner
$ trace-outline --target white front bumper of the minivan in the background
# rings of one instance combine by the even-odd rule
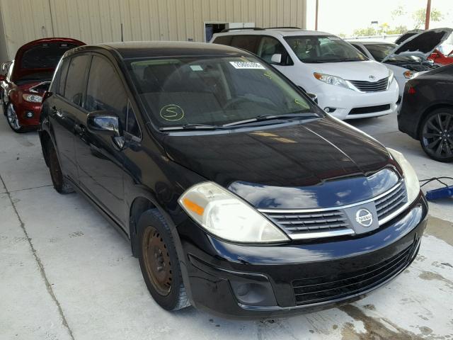
[[[332,89],[333,87],[336,89]],[[322,83],[311,92],[318,96],[321,108],[335,108],[335,111],[329,113],[339,119],[389,115],[396,112],[399,96],[396,81],[392,81],[388,90],[379,92],[363,93]]]

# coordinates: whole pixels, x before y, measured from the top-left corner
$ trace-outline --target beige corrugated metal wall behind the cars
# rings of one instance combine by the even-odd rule
[[[0,11],[10,58],[45,36],[119,41],[121,23],[125,41],[203,41],[205,22],[306,26],[306,0],[0,0]]]

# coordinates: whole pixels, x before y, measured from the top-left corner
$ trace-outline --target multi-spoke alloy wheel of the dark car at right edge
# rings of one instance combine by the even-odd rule
[[[438,162],[453,161],[453,110],[439,108],[428,114],[420,128],[420,144]]]

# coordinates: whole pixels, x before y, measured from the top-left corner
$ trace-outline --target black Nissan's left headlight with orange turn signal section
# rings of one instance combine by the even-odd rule
[[[216,183],[189,188],[178,200],[199,225],[231,242],[285,242],[286,235],[258,211]]]

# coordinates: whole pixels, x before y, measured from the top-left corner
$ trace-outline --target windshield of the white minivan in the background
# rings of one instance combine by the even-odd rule
[[[285,37],[301,62],[362,62],[368,60],[348,42],[334,35]]]

